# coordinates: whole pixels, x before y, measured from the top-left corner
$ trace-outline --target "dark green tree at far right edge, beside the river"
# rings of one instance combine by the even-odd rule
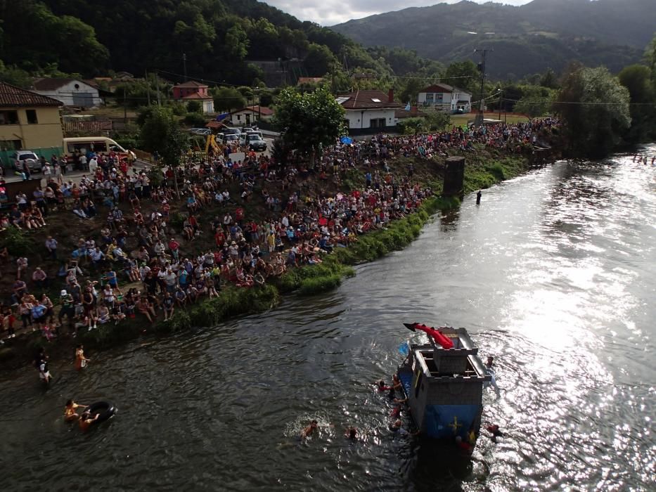
[[[636,143],[650,140],[656,135],[656,90],[650,69],[645,65],[629,65],[617,78],[631,97],[631,129],[625,138]]]

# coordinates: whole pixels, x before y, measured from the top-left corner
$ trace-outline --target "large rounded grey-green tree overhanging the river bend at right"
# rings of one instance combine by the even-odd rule
[[[563,122],[571,150],[603,157],[631,124],[629,90],[605,67],[572,65],[553,108]]]

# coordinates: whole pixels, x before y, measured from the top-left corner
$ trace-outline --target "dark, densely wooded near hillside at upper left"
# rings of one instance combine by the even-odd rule
[[[190,76],[233,84],[262,77],[265,64],[257,62],[266,60],[281,70],[287,60],[290,83],[340,75],[344,66],[380,75],[440,67],[400,50],[374,59],[341,34],[256,0],[0,0],[0,18],[0,60],[33,74],[181,74],[183,53]]]

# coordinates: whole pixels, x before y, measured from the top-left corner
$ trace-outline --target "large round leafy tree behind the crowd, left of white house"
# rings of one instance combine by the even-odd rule
[[[312,166],[316,153],[323,146],[335,143],[345,131],[344,108],[325,87],[306,93],[283,90],[278,96],[274,118],[283,130],[285,141],[309,154]]]

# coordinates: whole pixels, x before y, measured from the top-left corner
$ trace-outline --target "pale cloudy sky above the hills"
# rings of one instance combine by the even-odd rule
[[[261,0],[262,1],[262,0]],[[423,7],[435,4],[456,4],[461,0],[263,0],[276,6],[300,20],[310,20],[321,25],[335,25],[349,19],[359,19],[367,15],[398,11],[401,8]],[[484,4],[490,0],[473,0]],[[523,5],[531,0],[499,0],[498,4]]]

